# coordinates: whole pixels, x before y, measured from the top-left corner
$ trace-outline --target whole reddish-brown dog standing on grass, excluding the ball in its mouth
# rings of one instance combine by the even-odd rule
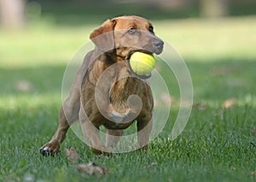
[[[87,144],[96,154],[111,153],[123,130],[134,121],[138,149],[147,151],[154,103],[148,82],[143,80],[148,76],[131,71],[129,59],[135,51],[160,54],[163,41],[154,35],[148,20],[137,16],[107,20],[90,39],[96,48],[85,56],[62,105],[55,135],[40,148],[41,154],[59,152],[67,129],[78,119]],[[106,145],[100,139],[101,125],[106,129]]]

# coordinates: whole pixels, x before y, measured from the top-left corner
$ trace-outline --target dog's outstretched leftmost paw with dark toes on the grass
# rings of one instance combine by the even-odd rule
[[[57,140],[49,141],[39,151],[43,156],[55,156],[55,154],[60,152],[60,143]]]

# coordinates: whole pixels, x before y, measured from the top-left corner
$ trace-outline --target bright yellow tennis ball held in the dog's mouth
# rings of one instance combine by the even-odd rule
[[[130,66],[131,70],[137,75],[147,75],[155,65],[154,56],[152,54],[145,54],[142,52],[135,52],[131,54]]]

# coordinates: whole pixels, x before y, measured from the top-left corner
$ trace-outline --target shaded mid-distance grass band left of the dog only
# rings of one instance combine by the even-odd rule
[[[0,68],[0,88],[2,95],[15,94],[61,94],[63,66],[35,66],[21,69]]]

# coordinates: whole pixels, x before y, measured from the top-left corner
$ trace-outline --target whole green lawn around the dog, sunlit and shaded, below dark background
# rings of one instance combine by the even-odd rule
[[[205,108],[195,106],[183,134],[168,140],[178,102],[177,84],[170,79],[176,102],[149,152],[111,157],[93,155],[72,131],[59,156],[38,152],[55,132],[67,62],[102,22],[75,27],[42,22],[16,33],[0,31],[0,181],[255,181],[256,148],[250,144],[256,143],[255,20],[153,20],[157,34],[186,61],[194,101]],[[29,85],[24,91],[22,82]],[[230,98],[236,105],[223,109]],[[82,177],[64,155],[71,146],[80,162],[96,162],[113,173]]]

